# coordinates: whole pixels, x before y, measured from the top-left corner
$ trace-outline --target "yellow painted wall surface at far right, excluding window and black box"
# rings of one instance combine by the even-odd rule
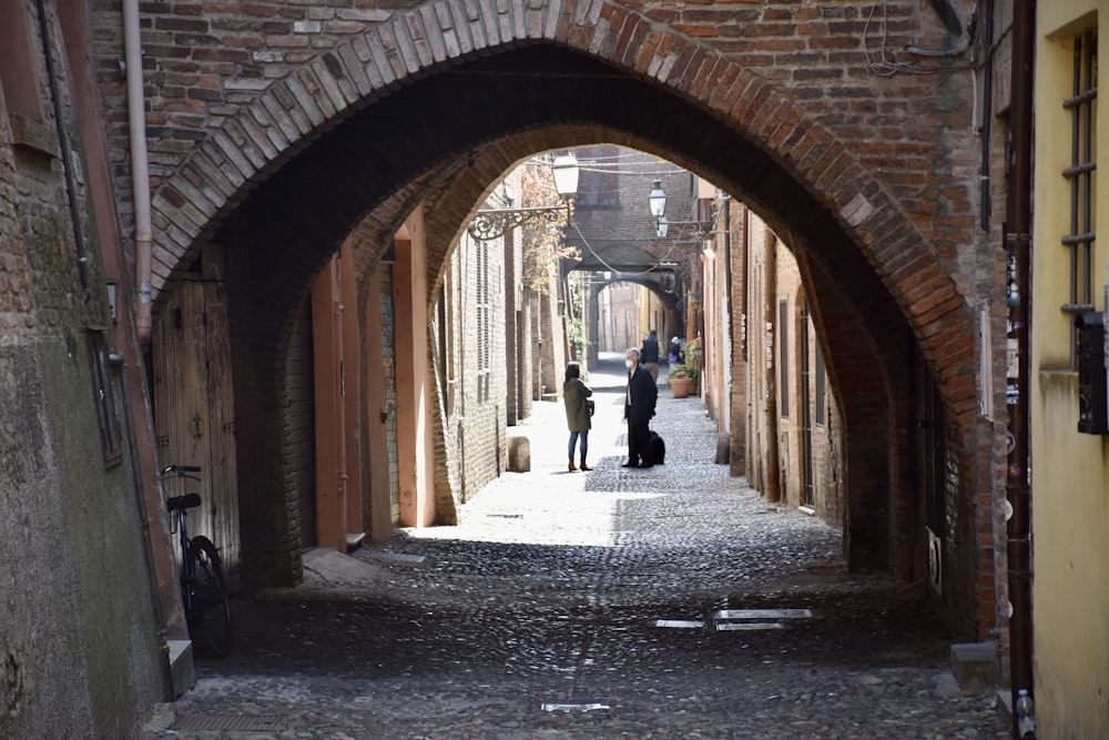
[[[1079,434],[1070,369],[1071,39],[1109,2],[1038,3],[1032,234],[1032,624],[1038,737],[1109,737],[1109,437]],[[1109,141],[1101,116],[1097,139]],[[1095,159],[1097,155],[1095,154]],[[1103,202],[1097,223],[1109,224]],[[1093,300],[1105,311],[1109,251],[1095,243]]]

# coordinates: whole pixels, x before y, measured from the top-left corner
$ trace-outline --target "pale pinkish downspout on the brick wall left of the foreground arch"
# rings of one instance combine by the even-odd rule
[[[128,83],[128,129],[131,134],[131,182],[135,207],[135,286],[139,305],[135,327],[139,343],[151,335],[151,217],[150,162],[146,156],[146,114],[142,89],[142,45],[139,0],[123,0],[123,62]]]

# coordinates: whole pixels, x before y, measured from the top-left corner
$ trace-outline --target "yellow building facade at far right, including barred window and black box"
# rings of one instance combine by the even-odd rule
[[[1107,11],[1105,2],[1037,3],[1032,34],[1031,667],[1044,738],[1109,731],[1109,262],[1097,239],[1109,211],[1092,166],[1106,141],[1097,80]]]

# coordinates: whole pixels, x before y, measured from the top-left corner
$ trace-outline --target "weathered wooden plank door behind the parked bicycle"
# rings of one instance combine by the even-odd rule
[[[153,338],[154,426],[159,465],[202,468],[199,481],[167,480],[166,494],[201,495],[203,505],[189,514],[189,531],[215,543],[231,587],[237,588],[235,416],[224,298],[220,282],[185,281],[160,313]]]

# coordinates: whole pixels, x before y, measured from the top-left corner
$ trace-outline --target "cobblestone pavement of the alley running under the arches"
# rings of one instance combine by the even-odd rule
[[[145,737],[1009,737],[996,693],[956,687],[919,591],[847,574],[838,531],[713,464],[699,399],[660,378],[667,463],[621,468],[603,369],[592,472],[567,472],[561,405],[538,404],[529,473],[458,527],[312,550],[302,586],[236,600],[235,652],[199,656]]]

